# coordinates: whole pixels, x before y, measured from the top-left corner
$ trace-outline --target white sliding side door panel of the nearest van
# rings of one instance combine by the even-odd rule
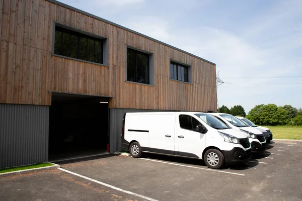
[[[150,115],[150,151],[175,155],[175,114]]]

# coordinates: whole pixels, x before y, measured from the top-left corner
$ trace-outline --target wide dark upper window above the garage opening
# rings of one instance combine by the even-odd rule
[[[103,63],[103,40],[56,26],[54,54]]]

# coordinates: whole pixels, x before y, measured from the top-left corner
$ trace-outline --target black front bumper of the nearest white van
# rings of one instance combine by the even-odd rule
[[[245,151],[240,147],[235,147],[231,151],[222,151],[225,163],[245,162],[252,157],[252,149]]]

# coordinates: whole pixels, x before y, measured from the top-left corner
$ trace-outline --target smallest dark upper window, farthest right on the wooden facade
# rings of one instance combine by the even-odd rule
[[[170,63],[170,77],[171,79],[189,82],[188,66],[171,62]]]

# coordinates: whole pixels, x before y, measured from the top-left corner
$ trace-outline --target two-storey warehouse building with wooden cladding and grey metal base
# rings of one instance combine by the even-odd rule
[[[57,1],[0,1],[0,168],[118,152],[125,112],[216,111],[214,63]]]

